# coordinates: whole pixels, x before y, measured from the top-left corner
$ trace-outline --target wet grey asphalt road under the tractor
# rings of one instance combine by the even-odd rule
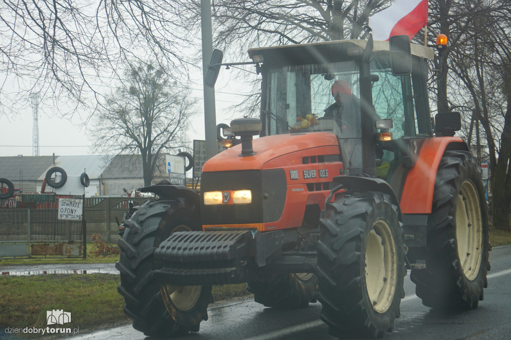
[[[459,313],[439,313],[422,305],[414,294],[415,285],[405,277],[406,297],[401,302],[401,318],[386,339],[511,339],[511,246],[490,253],[492,270],[489,287],[479,308]],[[209,320],[187,340],[334,339],[320,319],[321,305],[281,311],[254,303],[251,298],[212,304]],[[111,328],[74,339],[151,339],[131,325]]]

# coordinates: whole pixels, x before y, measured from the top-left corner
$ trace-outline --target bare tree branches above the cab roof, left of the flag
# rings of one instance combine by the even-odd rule
[[[200,25],[200,1],[176,1],[189,27]],[[219,0],[213,4],[215,45],[244,54],[260,45],[365,38],[367,18],[389,0]]]

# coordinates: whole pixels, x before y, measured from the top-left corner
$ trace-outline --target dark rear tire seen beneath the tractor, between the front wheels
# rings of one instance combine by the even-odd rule
[[[318,279],[311,273],[261,276],[247,282],[254,301],[266,307],[303,308],[316,302]]]

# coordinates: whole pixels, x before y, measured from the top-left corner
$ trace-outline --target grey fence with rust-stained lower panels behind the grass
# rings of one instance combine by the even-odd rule
[[[119,238],[129,206],[147,198],[91,197],[84,200],[83,221],[58,220],[56,200],[26,208],[23,202],[0,208],[0,258],[60,255],[85,257],[86,242],[93,234],[106,241]]]

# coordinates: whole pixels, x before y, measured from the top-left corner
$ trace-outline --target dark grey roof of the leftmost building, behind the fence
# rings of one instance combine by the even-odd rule
[[[53,156],[0,157],[0,177],[11,181],[18,181],[21,177],[24,181],[35,181],[41,174],[44,177],[52,163]]]

